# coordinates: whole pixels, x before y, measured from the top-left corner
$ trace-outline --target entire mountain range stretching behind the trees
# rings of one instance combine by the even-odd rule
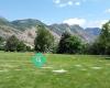
[[[0,18],[0,36],[7,40],[9,36],[15,35],[25,44],[33,46],[37,25],[44,25],[46,30],[54,35],[56,41],[61,38],[63,32],[67,31],[73,35],[79,36],[84,42],[92,42],[100,32],[99,29],[88,28],[84,30],[79,25],[68,25],[63,23],[46,25],[45,23],[34,19],[8,21],[4,18]]]

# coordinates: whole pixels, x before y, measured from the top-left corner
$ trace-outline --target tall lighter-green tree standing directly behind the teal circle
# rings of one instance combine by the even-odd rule
[[[46,53],[52,50],[54,36],[47,31],[44,25],[37,26],[37,34],[34,41],[35,51]]]

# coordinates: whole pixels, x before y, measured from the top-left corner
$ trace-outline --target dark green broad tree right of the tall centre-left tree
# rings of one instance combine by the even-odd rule
[[[65,32],[62,35],[58,45],[58,53],[61,54],[76,54],[80,53],[81,41],[77,36],[73,36],[69,33]]]

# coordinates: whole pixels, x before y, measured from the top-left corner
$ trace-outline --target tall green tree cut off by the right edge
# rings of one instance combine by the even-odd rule
[[[90,50],[91,54],[110,55],[110,21],[102,25],[101,33]]]

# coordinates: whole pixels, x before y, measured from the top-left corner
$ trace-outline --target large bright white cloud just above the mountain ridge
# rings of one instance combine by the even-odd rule
[[[74,18],[74,19],[67,19],[63,23],[67,23],[69,25],[79,24],[79,25],[84,26],[85,23],[86,23],[86,20],[85,19]]]

